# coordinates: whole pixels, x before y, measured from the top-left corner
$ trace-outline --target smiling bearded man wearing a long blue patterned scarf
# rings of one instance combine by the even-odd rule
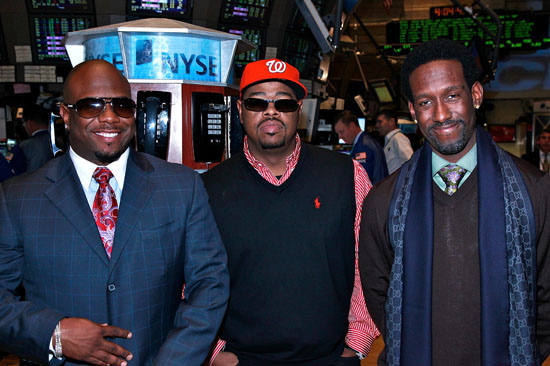
[[[426,143],[363,208],[379,365],[538,366],[550,353],[550,176],[476,126],[483,87],[465,46],[416,46],[401,72]]]

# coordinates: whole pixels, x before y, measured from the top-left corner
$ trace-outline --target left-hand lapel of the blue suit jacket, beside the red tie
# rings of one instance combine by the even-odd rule
[[[73,225],[84,241],[108,265],[107,254],[69,154],[57,158],[56,162],[57,164],[51,165],[47,174],[47,178],[53,184],[46,190],[46,197],[65,215],[67,221]]]

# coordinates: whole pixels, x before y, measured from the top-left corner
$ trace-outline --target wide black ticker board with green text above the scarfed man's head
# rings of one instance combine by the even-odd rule
[[[493,47],[494,42],[485,34],[473,19],[448,7],[431,12],[432,19],[392,21],[386,25],[386,46],[389,55],[403,55],[410,52],[415,44],[435,38],[449,38],[469,45],[474,36],[479,36],[485,46]],[[536,50],[550,47],[548,13],[501,13],[502,23],[500,49]],[[482,24],[493,34],[497,25],[489,16],[478,16]]]

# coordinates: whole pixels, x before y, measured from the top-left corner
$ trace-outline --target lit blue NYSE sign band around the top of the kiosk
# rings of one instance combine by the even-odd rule
[[[129,79],[184,80],[219,83],[220,41],[188,34],[123,34],[85,42],[88,59],[101,58],[123,70],[124,53]]]

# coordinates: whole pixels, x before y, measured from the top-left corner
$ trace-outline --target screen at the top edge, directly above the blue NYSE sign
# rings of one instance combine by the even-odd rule
[[[192,0],[127,0],[128,15],[191,19]]]

